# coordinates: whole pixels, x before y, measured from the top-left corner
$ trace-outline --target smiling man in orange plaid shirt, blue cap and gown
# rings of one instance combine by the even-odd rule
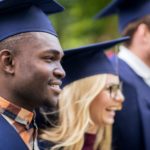
[[[0,150],[37,150],[34,109],[57,104],[63,51],[53,0],[0,1]]]

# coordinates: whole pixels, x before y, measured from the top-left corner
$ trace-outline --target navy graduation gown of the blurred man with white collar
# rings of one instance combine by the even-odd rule
[[[123,60],[118,63],[125,101],[115,117],[113,150],[150,150],[150,87]]]

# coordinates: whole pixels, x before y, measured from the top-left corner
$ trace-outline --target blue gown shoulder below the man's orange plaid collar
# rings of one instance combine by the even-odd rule
[[[15,129],[0,115],[0,150],[28,150]]]

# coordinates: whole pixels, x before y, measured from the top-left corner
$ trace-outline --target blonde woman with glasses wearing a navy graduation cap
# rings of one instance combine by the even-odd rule
[[[110,150],[111,125],[123,96],[116,71],[103,53],[125,39],[65,52],[67,77],[59,99],[59,124],[41,137],[55,143],[52,150]]]

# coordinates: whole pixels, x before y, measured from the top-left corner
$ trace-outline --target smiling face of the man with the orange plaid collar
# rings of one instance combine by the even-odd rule
[[[65,76],[60,64],[63,51],[55,36],[42,32],[33,35],[14,58],[14,95],[31,108],[45,103],[55,106]]]

